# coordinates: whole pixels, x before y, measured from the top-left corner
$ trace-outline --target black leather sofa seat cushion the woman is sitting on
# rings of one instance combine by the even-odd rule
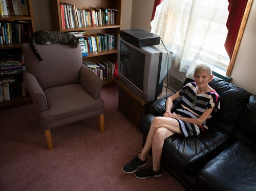
[[[226,131],[209,127],[198,136],[174,134],[165,139],[162,160],[174,171],[188,173],[201,168],[227,147],[233,139]]]

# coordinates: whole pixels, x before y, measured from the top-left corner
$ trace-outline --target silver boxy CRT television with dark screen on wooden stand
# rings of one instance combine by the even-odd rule
[[[154,102],[162,92],[172,54],[160,46],[137,47],[118,36],[118,75],[138,97]]]

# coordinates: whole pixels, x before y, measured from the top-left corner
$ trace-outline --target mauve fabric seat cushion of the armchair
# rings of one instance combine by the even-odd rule
[[[41,125],[45,129],[59,126],[70,120],[70,123],[104,113],[104,102],[93,99],[80,84],[69,84],[51,87],[44,90],[48,110],[41,112]],[[71,99],[72,98],[72,99]],[[84,116],[87,117],[84,117]],[[67,124],[67,123],[63,123]]]

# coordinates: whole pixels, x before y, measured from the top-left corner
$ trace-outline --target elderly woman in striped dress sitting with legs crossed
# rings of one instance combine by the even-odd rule
[[[133,160],[122,167],[125,173],[134,173],[144,166],[147,154],[152,149],[152,168],[140,170],[135,176],[139,179],[151,176],[160,177],[164,139],[175,133],[185,137],[195,136],[208,129],[205,125],[206,120],[218,111],[220,105],[220,96],[208,85],[212,78],[209,66],[200,64],[196,67],[195,82],[189,82],[167,99],[166,111],[163,116],[154,118],[143,149]],[[181,108],[171,113],[173,102],[178,98],[181,98]]]

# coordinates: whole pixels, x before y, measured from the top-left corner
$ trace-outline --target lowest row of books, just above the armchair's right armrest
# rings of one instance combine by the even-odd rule
[[[83,61],[103,82],[111,82],[114,75],[115,64],[109,60],[101,62]]]

